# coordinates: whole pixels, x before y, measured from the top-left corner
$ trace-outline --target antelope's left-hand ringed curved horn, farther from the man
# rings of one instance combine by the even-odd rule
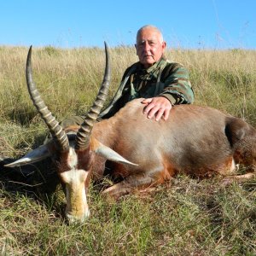
[[[34,106],[38,109],[38,112],[40,113],[42,119],[44,119],[45,124],[48,126],[55,143],[57,143],[61,150],[67,150],[69,148],[67,134],[65,133],[65,131],[63,131],[61,125],[59,125],[55,117],[44,104],[44,101],[41,98],[36,87],[36,84],[32,80],[31,55],[32,46],[28,51],[26,59],[26,84],[30,97],[32,99],[32,102],[34,103]]]

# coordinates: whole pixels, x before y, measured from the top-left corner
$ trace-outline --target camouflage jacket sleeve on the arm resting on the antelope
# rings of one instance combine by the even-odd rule
[[[172,105],[194,102],[194,91],[189,81],[189,72],[179,63],[170,63],[163,71],[161,82],[164,89],[159,96],[165,96]]]

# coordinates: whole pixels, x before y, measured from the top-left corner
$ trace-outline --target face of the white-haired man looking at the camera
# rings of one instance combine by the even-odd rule
[[[139,61],[148,68],[160,60],[166,49],[166,42],[162,41],[160,32],[148,27],[137,36],[135,47]]]

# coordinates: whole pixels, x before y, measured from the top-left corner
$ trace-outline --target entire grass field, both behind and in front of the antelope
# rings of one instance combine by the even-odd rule
[[[48,132],[26,90],[27,50],[0,47],[0,152],[12,158],[38,147]],[[125,67],[137,61],[129,47],[110,49],[110,55],[108,101]],[[166,56],[188,67],[195,104],[256,127],[255,50],[168,49]],[[98,48],[47,46],[32,52],[34,80],[58,120],[86,113],[104,65]],[[91,217],[68,225],[65,196],[49,160],[0,168],[1,255],[256,255],[255,179],[224,187],[218,177],[179,176],[154,192],[118,202],[105,201],[94,185],[88,199]]]

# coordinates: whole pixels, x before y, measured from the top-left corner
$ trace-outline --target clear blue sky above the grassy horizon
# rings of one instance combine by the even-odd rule
[[[131,46],[150,24],[169,48],[256,49],[256,0],[1,2],[0,45]]]

